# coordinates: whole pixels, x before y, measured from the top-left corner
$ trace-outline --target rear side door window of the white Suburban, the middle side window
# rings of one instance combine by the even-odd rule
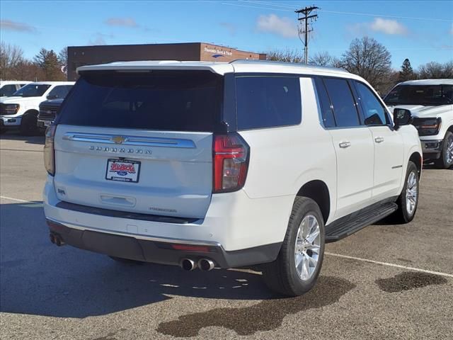
[[[359,126],[360,120],[348,81],[326,78],[324,84],[326,84],[328,96],[331,98],[337,126],[344,128]]]

